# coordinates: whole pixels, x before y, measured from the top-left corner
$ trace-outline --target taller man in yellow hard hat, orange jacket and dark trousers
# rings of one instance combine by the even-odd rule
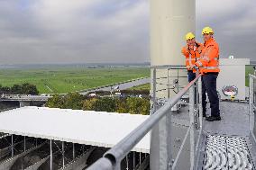
[[[216,90],[216,79],[219,75],[219,46],[214,39],[214,31],[210,27],[205,27],[202,31],[205,43],[200,59],[196,66],[202,74],[202,104],[203,114],[206,116],[206,93],[211,105],[211,116],[206,121],[220,121],[219,97]]]

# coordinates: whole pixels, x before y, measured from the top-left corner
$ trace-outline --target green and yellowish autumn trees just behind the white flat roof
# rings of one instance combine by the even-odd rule
[[[96,112],[120,112],[149,115],[151,103],[139,97],[87,97],[78,93],[56,94],[48,100],[47,107]]]

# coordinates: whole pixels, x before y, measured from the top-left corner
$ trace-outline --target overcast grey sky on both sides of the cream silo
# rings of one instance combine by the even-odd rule
[[[149,61],[149,0],[0,0],[0,64]],[[256,1],[197,0],[222,57],[256,60]],[[201,37],[198,37],[201,40]]]

